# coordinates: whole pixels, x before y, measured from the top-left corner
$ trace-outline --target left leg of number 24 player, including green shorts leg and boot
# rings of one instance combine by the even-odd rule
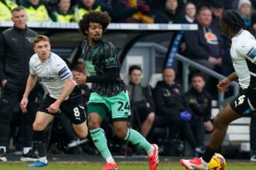
[[[99,103],[101,101],[101,103]],[[104,97],[99,96],[97,93],[91,93],[90,100],[88,102],[88,128],[92,137],[92,140],[101,153],[102,157],[105,158],[107,164],[103,170],[117,169],[118,166],[112,158],[109,151],[106,135],[100,124],[105,119],[106,114],[109,112],[109,107]]]

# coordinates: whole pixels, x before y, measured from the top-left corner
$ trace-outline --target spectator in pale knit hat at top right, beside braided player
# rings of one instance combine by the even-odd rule
[[[251,27],[251,2],[249,0],[239,0],[238,11],[244,20],[247,29]]]

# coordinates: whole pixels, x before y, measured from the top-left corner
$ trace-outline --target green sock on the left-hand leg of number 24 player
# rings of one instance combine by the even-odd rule
[[[92,140],[96,146],[96,148],[99,150],[103,158],[109,158],[112,157],[107,142],[106,137],[101,128],[95,128],[90,130]]]

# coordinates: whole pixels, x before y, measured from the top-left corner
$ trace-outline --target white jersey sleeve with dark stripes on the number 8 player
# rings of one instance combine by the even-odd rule
[[[57,69],[57,73],[59,74],[59,76],[61,77],[61,80],[67,80],[68,78],[72,77],[72,73],[71,70],[69,70],[69,68],[67,67],[67,64],[59,59],[56,63],[56,69]]]

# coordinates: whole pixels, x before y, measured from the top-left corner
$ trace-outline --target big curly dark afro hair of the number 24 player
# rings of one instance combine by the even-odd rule
[[[108,12],[99,12],[99,11],[88,12],[85,15],[83,15],[82,19],[80,19],[78,23],[79,31],[82,32],[85,36],[87,36],[85,31],[88,31],[89,23],[96,22],[96,23],[101,23],[102,30],[104,32],[106,28],[109,26],[110,21],[111,19]]]

